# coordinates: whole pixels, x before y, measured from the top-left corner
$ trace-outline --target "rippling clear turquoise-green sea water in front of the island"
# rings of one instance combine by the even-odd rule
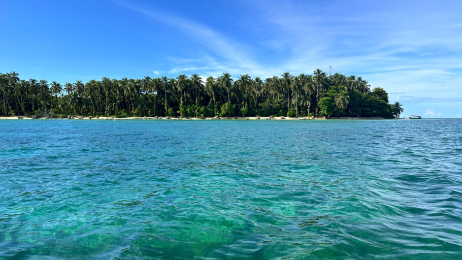
[[[461,154],[458,119],[0,120],[0,259],[457,259]]]

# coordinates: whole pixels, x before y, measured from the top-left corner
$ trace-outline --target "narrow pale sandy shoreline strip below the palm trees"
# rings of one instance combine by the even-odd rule
[[[90,116],[73,116],[72,118],[33,118],[29,116],[0,116],[0,120],[134,120],[134,119],[150,119],[150,120],[394,120],[394,119],[407,119],[407,118],[391,118],[391,119],[386,119],[383,117],[330,117],[330,118],[325,118],[325,117],[258,117],[258,116],[252,116],[252,117],[242,117],[242,116],[232,116],[232,117],[202,117],[202,118],[197,118],[197,117],[186,117],[186,118],[181,118],[181,117],[168,117],[168,116],[156,116],[156,117],[90,117]]]

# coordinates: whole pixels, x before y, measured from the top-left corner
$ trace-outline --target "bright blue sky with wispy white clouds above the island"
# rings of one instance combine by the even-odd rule
[[[266,78],[317,68],[382,87],[405,115],[462,117],[461,1],[2,1],[0,72]]]

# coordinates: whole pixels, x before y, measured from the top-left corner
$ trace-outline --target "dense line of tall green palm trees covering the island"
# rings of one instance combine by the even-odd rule
[[[387,92],[370,90],[361,77],[283,73],[265,80],[228,73],[202,79],[177,78],[90,80],[61,85],[22,80],[16,72],[0,73],[2,115],[43,113],[83,116],[399,116],[401,104],[388,104]]]

